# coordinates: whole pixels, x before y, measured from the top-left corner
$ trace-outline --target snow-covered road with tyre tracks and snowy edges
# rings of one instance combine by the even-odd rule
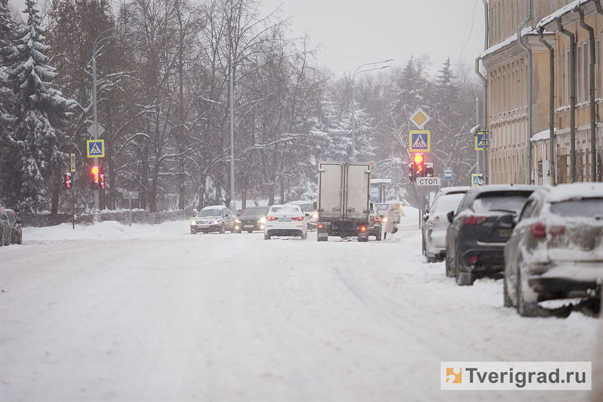
[[[404,219],[368,243],[25,227],[0,248],[0,400],[590,401],[441,391],[440,362],[590,362],[603,328],[521,318],[500,279],[456,286]]]

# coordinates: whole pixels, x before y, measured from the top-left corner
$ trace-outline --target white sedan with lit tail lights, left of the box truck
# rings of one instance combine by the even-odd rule
[[[308,237],[308,222],[301,207],[298,205],[273,205],[266,215],[264,239],[271,236],[301,236]]]

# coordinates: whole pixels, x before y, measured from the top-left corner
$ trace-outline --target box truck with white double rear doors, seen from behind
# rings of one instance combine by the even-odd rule
[[[318,241],[357,236],[368,242],[370,162],[319,162]]]

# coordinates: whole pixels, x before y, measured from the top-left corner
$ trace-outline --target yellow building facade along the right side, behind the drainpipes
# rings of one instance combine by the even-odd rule
[[[599,33],[598,49],[603,49],[603,15],[596,13],[594,1],[584,0],[581,7],[585,8],[587,23],[595,27],[595,33]],[[588,33],[579,27],[578,13],[571,10],[565,12],[570,8],[569,5],[575,4],[576,2],[563,0],[490,0],[488,4],[490,47],[482,53],[481,60],[487,73],[488,85],[490,184],[554,184],[569,181],[569,36],[559,31],[555,20],[557,17],[563,19],[564,29],[573,31],[577,38],[576,79],[579,84],[576,85],[576,181],[591,178],[592,157],[589,151],[590,143],[587,141],[590,136],[588,79],[585,84],[583,77],[585,72],[588,75],[588,52],[585,59],[582,51]],[[569,14],[573,14],[573,22]],[[521,28],[521,44],[517,40],[518,27]],[[537,28],[540,27],[544,28],[543,40],[555,51],[554,124],[557,135],[554,137],[555,155],[552,165],[549,157],[549,48],[538,36]],[[561,57],[558,56],[558,46],[561,49]],[[603,65],[598,57],[598,66]],[[603,75],[603,68],[599,66],[597,71],[597,87],[601,88],[600,77]],[[599,103],[603,102],[600,90],[597,97]],[[597,131],[600,159],[601,129]],[[601,169],[600,162],[598,166]],[[598,180],[601,180],[600,177],[599,174]]]

